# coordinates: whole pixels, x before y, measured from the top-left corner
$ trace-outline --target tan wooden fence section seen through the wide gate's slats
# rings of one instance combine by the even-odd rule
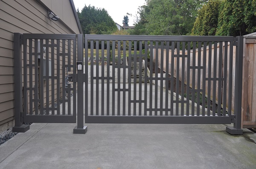
[[[221,47],[222,56],[219,56],[219,54],[220,54],[220,45],[222,45],[222,47]],[[226,42],[226,45],[227,45],[227,56],[229,56],[230,55],[230,44]],[[195,64],[196,64],[195,66],[198,66],[198,65],[202,66],[203,61],[204,61],[203,57],[204,57],[206,59],[206,68],[205,68],[206,77],[213,77],[214,72],[215,72],[215,76],[217,78],[219,76],[223,76],[223,72],[224,72],[223,71],[223,69],[224,69],[224,53],[225,53],[225,51],[224,51],[225,47],[224,46],[225,46],[225,42],[223,42],[222,44],[218,43],[216,51],[214,51],[214,45],[211,45],[210,47],[207,46],[207,49],[206,49],[206,52],[205,52],[206,56],[204,56],[204,48],[201,48],[201,50],[200,50],[200,52],[201,52],[201,61],[199,61],[199,62],[198,62],[198,49],[196,49],[194,51],[195,56],[193,54],[193,50],[191,50],[190,51],[190,62],[191,62],[190,66],[192,66],[193,57],[195,58]],[[209,49],[211,51],[209,51]],[[189,85],[190,87],[192,87],[192,82],[193,82],[192,78],[195,78],[196,79],[195,80],[195,88],[196,89],[198,89],[198,88],[203,89],[203,75],[204,75],[203,74],[203,69],[201,69],[200,73],[198,73],[198,69],[196,69],[195,70],[195,76],[192,76],[192,71],[190,71],[190,74],[188,75],[188,73],[187,73],[187,58],[185,57],[183,59],[181,57],[182,55],[186,56],[188,54],[188,51],[185,51],[185,54],[182,54],[182,50],[177,51],[177,49],[175,49],[174,54],[177,55],[177,52],[180,52],[180,57],[179,58],[177,58],[177,57],[174,58],[174,76],[175,76],[175,78],[178,78],[180,80],[182,78],[184,78],[184,83],[186,85]],[[215,62],[215,63],[214,63],[214,52],[217,53],[217,54],[215,54],[215,57],[217,56],[217,58],[215,58],[217,62]],[[210,57],[209,57],[209,54],[210,54]],[[234,78],[234,75],[235,75],[235,56],[236,56],[236,46],[233,47],[232,111],[234,110],[234,104],[233,103],[234,103],[234,88],[235,88],[235,86],[234,86],[234,82],[235,82],[235,78]],[[172,69],[171,68],[171,64],[172,64],[171,63],[171,60],[172,60],[171,57],[172,57],[172,50],[169,49],[169,74],[171,74],[171,69]],[[221,62],[220,62],[220,58],[222,59]],[[161,59],[161,49],[158,49],[158,60],[160,61],[160,59]],[[179,59],[179,61],[177,59]],[[209,59],[211,59],[210,62],[209,62]],[[163,52],[163,60],[164,60],[163,70],[166,72],[166,62],[165,62],[166,61],[166,49],[164,49],[164,52]],[[183,62],[185,62],[185,63],[183,63]],[[178,63],[178,65],[177,65],[177,63]],[[229,73],[230,73],[229,72],[229,57],[227,57],[227,64],[226,65],[227,65],[227,76],[229,76]],[[221,66],[221,68],[219,69],[220,66]],[[161,68],[160,67],[160,62],[158,62],[158,67]],[[183,72],[182,69],[184,69],[184,75],[182,74],[182,72]],[[220,73],[219,73],[219,70],[221,70]],[[198,74],[200,74],[200,77],[198,77]],[[182,77],[182,76],[184,76],[184,77]],[[189,78],[189,84],[187,84],[187,76],[190,77]],[[198,83],[198,78],[200,78],[199,83]],[[227,79],[227,84],[228,84],[228,79]],[[214,88],[213,85],[216,86],[216,88],[214,90],[213,90],[213,88]],[[208,89],[208,81],[206,81],[206,87],[205,87],[206,96],[210,95],[211,100],[212,100],[213,93],[215,92],[216,104],[221,103],[221,105],[222,105],[223,99],[225,98],[226,99],[225,103],[226,103],[226,106],[227,106],[228,97],[223,97],[223,88],[224,88],[223,84],[218,85],[218,82],[216,82],[216,84],[213,84],[213,82],[211,82],[210,86],[211,86],[211,90],[209,92],[207,90]],[[219,87],[221,87],[221,96],[220,97],[218,96]],[[226,89],[228,89],[228,85],[226,87],[227,87]],[[228,91],[228,90],[226,90],[226,91]],[[221,98],[221,100],[219,101],[218,99],[220,99],[220,98]]]

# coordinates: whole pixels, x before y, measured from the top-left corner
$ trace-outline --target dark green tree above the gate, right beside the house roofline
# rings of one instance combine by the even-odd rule
[[[84,6],[77,11],[84,34],[111,34],[117,30],[116,24],[104,8]]]

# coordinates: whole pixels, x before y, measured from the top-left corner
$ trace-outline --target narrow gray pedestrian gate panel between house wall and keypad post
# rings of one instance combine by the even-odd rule
[[[76,123],[75,75],[75,34],[23,34],[24,122]]]

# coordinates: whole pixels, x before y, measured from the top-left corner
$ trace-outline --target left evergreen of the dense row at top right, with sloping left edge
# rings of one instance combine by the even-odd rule
[[[198,17],[195,20],[191,35],[215,36],[222,2],[222,0],[209,0],[198,10]]]

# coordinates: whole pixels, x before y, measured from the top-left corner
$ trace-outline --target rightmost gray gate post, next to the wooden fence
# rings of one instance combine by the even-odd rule
[[[243,78],[243,45],[244,37],[236,37],[236,67],[235,67],[235,107],[234,107],[234,127],[226,127],[230,134],[243,134],[241,129],[241,108],[242,108],[242,78]]]

